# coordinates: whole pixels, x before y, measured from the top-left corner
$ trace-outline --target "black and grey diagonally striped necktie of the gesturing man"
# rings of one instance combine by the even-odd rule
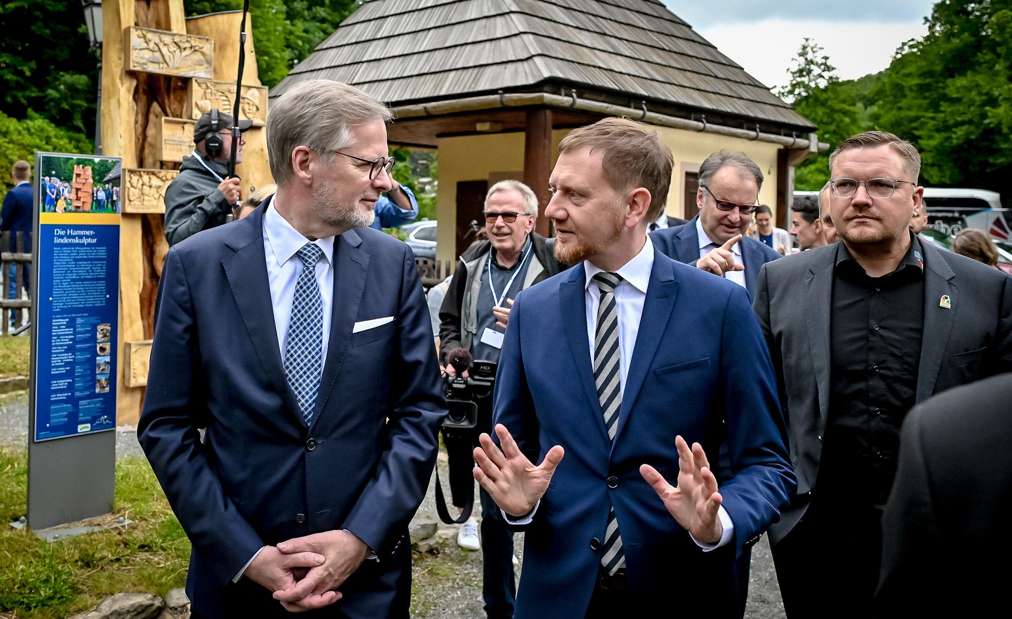
[[[601,289],[601,302],[597,305],[597,327],[594,330],[594,383],[597,399],[604,414],[604,427],[608,439],[614,440],[618,429],[618,411],[622,407],[618,352],[618,307],[615,304],[615,286],[622,280],[615,273],[594,275],[594,283]],[[625,566],[622,538],[618,534],[615,510],[608,508],[608,526],[604,531],[601,565],[610,574]]]

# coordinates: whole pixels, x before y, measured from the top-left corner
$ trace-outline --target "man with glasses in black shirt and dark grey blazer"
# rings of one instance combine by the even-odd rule
[[[861,134],[830,170],[842,243],[765,265],[754,302],[798,481],[770,528],[788,617],[870,615],[904,417],[1012,370],[1012,279],[908,229],[923,192],[914,147]]]

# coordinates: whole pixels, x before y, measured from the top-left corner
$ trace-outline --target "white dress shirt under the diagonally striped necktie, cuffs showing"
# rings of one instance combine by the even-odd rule
[[[632,349],[636,346],[636,339],[640,333],[640,320],[643,318],[644,301],[647,300],[647,287],[650,285],[650,274],[654,269],[654,244],[651,242],[650,237],[647,237],[647,242],[644,244],[643,249],[640,250],[640,253],[619,267],[617,271],[614,271],[614,273],[622,278],[618,282],[618,285],[615,286],[615,310],[618,313],[618,389],[622,395],[625,393],[625,377],[628,375],[629,363],[632,360]],[[587,344],[590,351],[590,358],[593,359],[594,332],[597,329],[597,308],[601,301],[601,289],[593,282],[593,277],[597,273],[603,272],[603,269],[585,260],[583,262],[583,270],[585,276],[583,299],[586,307]],[[672,436],[671,443],[674,444],[674,442],[675,437]],[[668,479],[668,482],[676,482],[676,480]],[[537,511],[540,503],[538,501],[530,514],[523,518],[513,518],[505,512],[503,512],[503,516],[513,524],[528,524],[533,520],[534,512]],[[721,524],[724,527],[724,533],[721,535],[719,542],[700,542],[691,533],[689,534],[692,537],[692,541],[702,548],[703,551],[720,548],[729,543],[732,537],[734,537],[735,525],[723,505],[718,509],[718,517],[721,519]],[[618,530],[620,533],[621,523],[618,523]]]

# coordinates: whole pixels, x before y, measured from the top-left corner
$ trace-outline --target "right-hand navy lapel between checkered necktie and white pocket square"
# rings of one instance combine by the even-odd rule
[[[330,319],[330,340],[324,360],[320,393],[317,395],[313,425],[330,399],[334,382],[351,343],[351,332],[358,318],[358,306],[365,289],[365,274],[369,269],[369,255],[361,246],[362,240],[354,230],[334,240],[334,293]],[[312,428],[312,425],[311,425]]]

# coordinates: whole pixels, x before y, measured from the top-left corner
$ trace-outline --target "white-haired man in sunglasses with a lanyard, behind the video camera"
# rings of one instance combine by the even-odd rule
[[[509,307],[516,294],[562,270],[545,244],[533,232],[537,197],[520,181],[500,181],[485,196],[488,240],[468,248],[450,280],[439,310],[440,361],[449,375],[456,370],[448,359],[473,358],[499,362]],[[492,396],[479,397],[478,425],[471,430],[443,429],[453,505],[460,508],[474,495],[473,449],[478,435],[492,432]],[[513,576],[513,533],[488,493],[479,489],[482,503],[481,546],[485,562],[483,595],[490,619],[511,618],[516,599]],[[460,526],[457,543],[479,547],[476,521]]]

